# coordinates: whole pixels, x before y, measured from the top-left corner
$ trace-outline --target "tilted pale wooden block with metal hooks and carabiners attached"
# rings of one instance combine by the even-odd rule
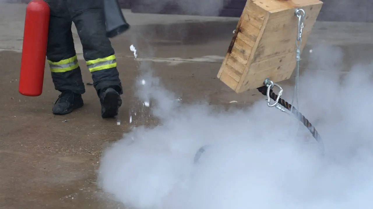
[[[295,68],[298,17],[305,17],[301,51],[323,2],[319,0],[247,0],[217,77],[237,93],[264,86],[270,78],[290,78]]]

